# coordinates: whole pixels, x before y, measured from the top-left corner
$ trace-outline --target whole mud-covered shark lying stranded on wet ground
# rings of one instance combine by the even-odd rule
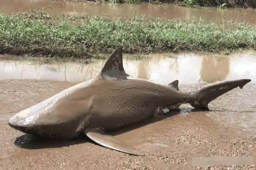
[[[186,93],[179,91],[177,80],[160,85],[128,76],[122,65],[122,48],[117,48],[96,79],[68,88],[17,113],[10,118],[9,125],[50,139],[71,139],[83,132],[102,146],[143,155],[108,135],[108,130],[142,122],[160,109],[177,108],[183,103],[209,110],[210,101],[250,82],[250,79],[217,82]]]

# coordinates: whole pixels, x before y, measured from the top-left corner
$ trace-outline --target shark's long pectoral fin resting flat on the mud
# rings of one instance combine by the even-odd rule
[[[119,140],[115,139],[113,136],[110,136],[100,130],[99,128],[94,128],[94,129],[84,129],[83,130],[84,134],[88,136],[91,140],[96,142],[99,145],[102,145],[104,147],[108,147],[114,150],[118,150],[124,153],[129,153],[132,155],[137,155],[137,156],[143,156],[143,153],[140,153],[136,149],[128,146],[127,144],[124,144],[120,142]]]

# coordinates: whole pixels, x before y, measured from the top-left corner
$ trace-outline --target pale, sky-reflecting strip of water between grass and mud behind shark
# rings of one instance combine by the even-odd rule
[[[170,57],[171,56],[171,57]],[[256,52],[221,56],[218,54],[154,54],[147,59],[131,60],[125,55],[124,68],[131,77],[149,79],[168,84],[179,79],[180,84],[196,84],[200,81],[252,79],[256,83]],[[89,64],[62,62],[39,64],[27,60],[0,60],[0,80],[47,79],[81,82],[97,76],[105,60]]]

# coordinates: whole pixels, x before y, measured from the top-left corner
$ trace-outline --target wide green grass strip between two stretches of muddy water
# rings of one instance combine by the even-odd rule
[[[122,45],[126,53],[256,49],[256,29],[197,21],[0,15],[0,53],[92,57]]]

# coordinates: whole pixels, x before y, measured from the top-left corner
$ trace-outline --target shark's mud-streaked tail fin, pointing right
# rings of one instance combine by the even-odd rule
[[[250,79],[239,79],[233,81],[216,82],[205,85],[202,88],[190,92],[192,100],[189,102],[194,108],[204,109],[209,111],[208,103],[216,99],[221,94],[224,94],[233,88],[243,88],[245,84],[250,82]]]

